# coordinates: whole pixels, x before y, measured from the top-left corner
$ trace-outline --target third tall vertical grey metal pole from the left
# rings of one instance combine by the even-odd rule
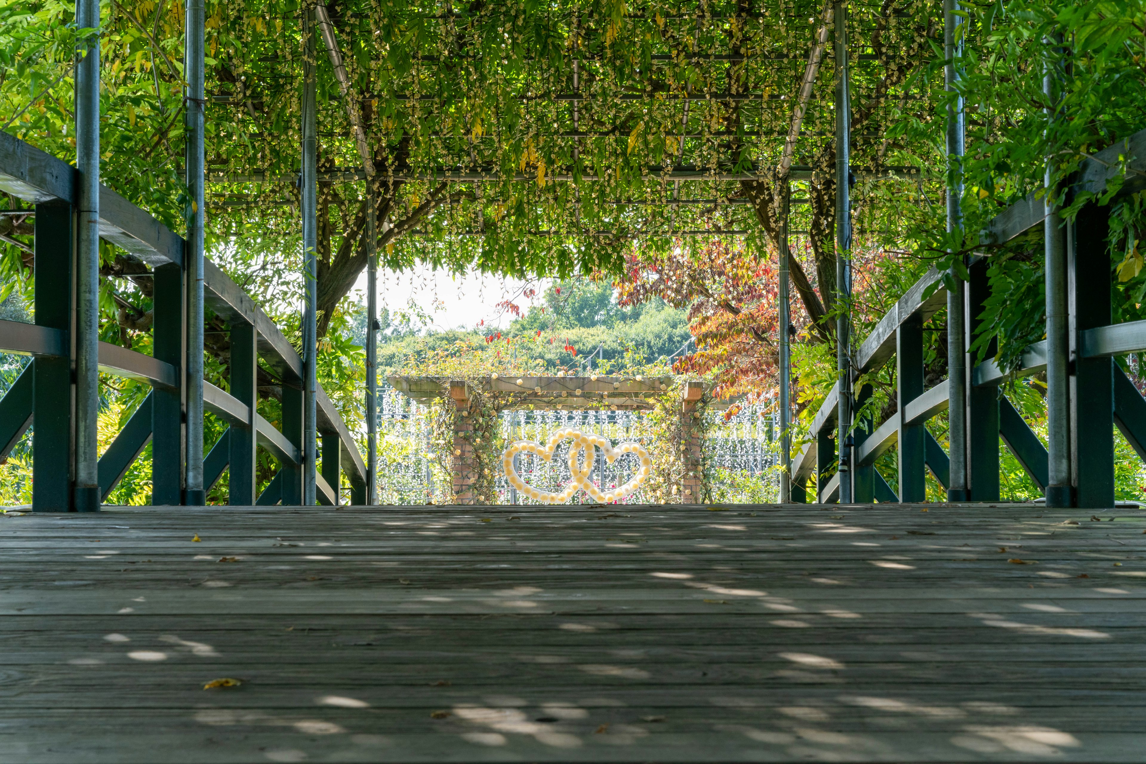
[[[319,247],[317,227],[317,178],[316,162],[319,139],[316,134],[317,80],[315,66],[315,10],[303,15],[303,39],[306,54],[303,57],[303,277],[305,279],[305,305],[303,307],[303,504],[315,503],[314,472],[317,460],[317,426],[315,395],[319,387],[317,360],[317,278]]]

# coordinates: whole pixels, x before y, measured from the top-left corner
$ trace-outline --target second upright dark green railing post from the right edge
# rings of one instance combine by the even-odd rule
[[[964,315],[968,324],[966,337],[973,340],[981,329],[979,315],[990,297],[987,262],[971,267],[967,304]],[[994,357],[998,341],[991,339],[987,357]],[[999,501],[999,391],[994,386],[967,389],[967,489],[972,502]]]

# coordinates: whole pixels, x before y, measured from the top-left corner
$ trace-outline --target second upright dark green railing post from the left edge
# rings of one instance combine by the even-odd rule
[[[151,354],[179,370],[179,389],[157,387],[151,403],[151,504],[183,503],[183,448],[186,446],[187,290],[183,268],[170,263],[152,271]]]

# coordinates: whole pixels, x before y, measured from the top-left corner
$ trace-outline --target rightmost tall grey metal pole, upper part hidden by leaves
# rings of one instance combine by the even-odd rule
[[[1051,52],[1047,52],[1049,55]],[[1059,84],[1054,62],[1047,61],[1043,93],[1057,104]],[[1046,110],[1050,135],[1055,108]],[[1053,163],[1046,162],[1044,204],[1045,284],[1046,284],[1046,460],[1047,506],[1070,506],[1070,408],[1069,408],[1069,323],[1067,315],[1067,249],[1065,227],[1054,204]]]

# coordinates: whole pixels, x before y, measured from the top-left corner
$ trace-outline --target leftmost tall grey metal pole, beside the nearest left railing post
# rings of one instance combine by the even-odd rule
[[[76,26],[100,29],[99,0],[76,3]],[[76,487],[80,512],[100,510],[96,415],[100,410],[100,37],[76,52],[76,167],[79,230],[76,249]],[[56,479],[63,480],[64,475]]]

